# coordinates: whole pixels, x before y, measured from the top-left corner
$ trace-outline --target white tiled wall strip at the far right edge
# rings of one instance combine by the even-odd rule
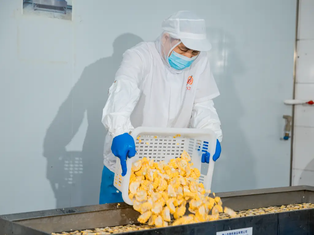
[[[300,0],[295,99],[314,100],[314,1]],[[314,105],[295,106],[292,185],[314,186]]]

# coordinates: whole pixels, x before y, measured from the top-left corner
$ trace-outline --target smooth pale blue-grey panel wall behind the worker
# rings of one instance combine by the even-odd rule
[[[213,44],[224,132],[213,191],[289,184],[290,141],[279,139],[291,114],[282,101],[292,97],[295,1],[91,2],[73,2],[73,21],[2,3],[0,214],[98,203],[101,112],[122,53],[154,40],[181,8],[205,17]]]

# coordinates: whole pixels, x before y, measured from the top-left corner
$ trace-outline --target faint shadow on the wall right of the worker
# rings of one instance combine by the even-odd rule
[[[257,182],[252,150],[240,126],[244,109],[234,86],[245,68],[237,56],[236,43],[231,35],[214,28],[207,28],[207,32],[212,44],[208,52],[211,69],[220,91],[214,103],[223,132],[222,152],[214,167],[212,191],[253,189]]]

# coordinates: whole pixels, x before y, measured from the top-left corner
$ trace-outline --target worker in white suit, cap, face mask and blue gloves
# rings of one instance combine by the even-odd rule
[[[213,99],[219,91],[206,51],[205,21],[189,11],[165,19],[163,33],[155,42],[140,43],[127,50],[109,89],[102,123],[108,130],[100,204],[123,201],[113,186],[116,157],[122,175],[126,159],[136,154],[129,133],[136,127],[207,128],[217,135],[213,156],[220,156],[222,132]],[[209,161],[203,154],[202,162]],[[109,170],[108,170],[109,169]]]

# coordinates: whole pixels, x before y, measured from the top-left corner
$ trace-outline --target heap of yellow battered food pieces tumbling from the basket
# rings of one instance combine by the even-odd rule
[[[134,210],[141,213],[138,222],[165,227],[171,222],[171,214],[175,218],[172,225],[219,219],[219,213],[224,212],[222,202],[219,197],[205,196],[210,191],[206,192],[204,185],[198,183],[201,172],[192,168],[190,161],[184,151],[168,164],[145,157],[133,163],[129,198]],[[185,216],[187,203],[192,212],[189,216]],[[225,208],[225,213],[236,216],[230,208]]]

